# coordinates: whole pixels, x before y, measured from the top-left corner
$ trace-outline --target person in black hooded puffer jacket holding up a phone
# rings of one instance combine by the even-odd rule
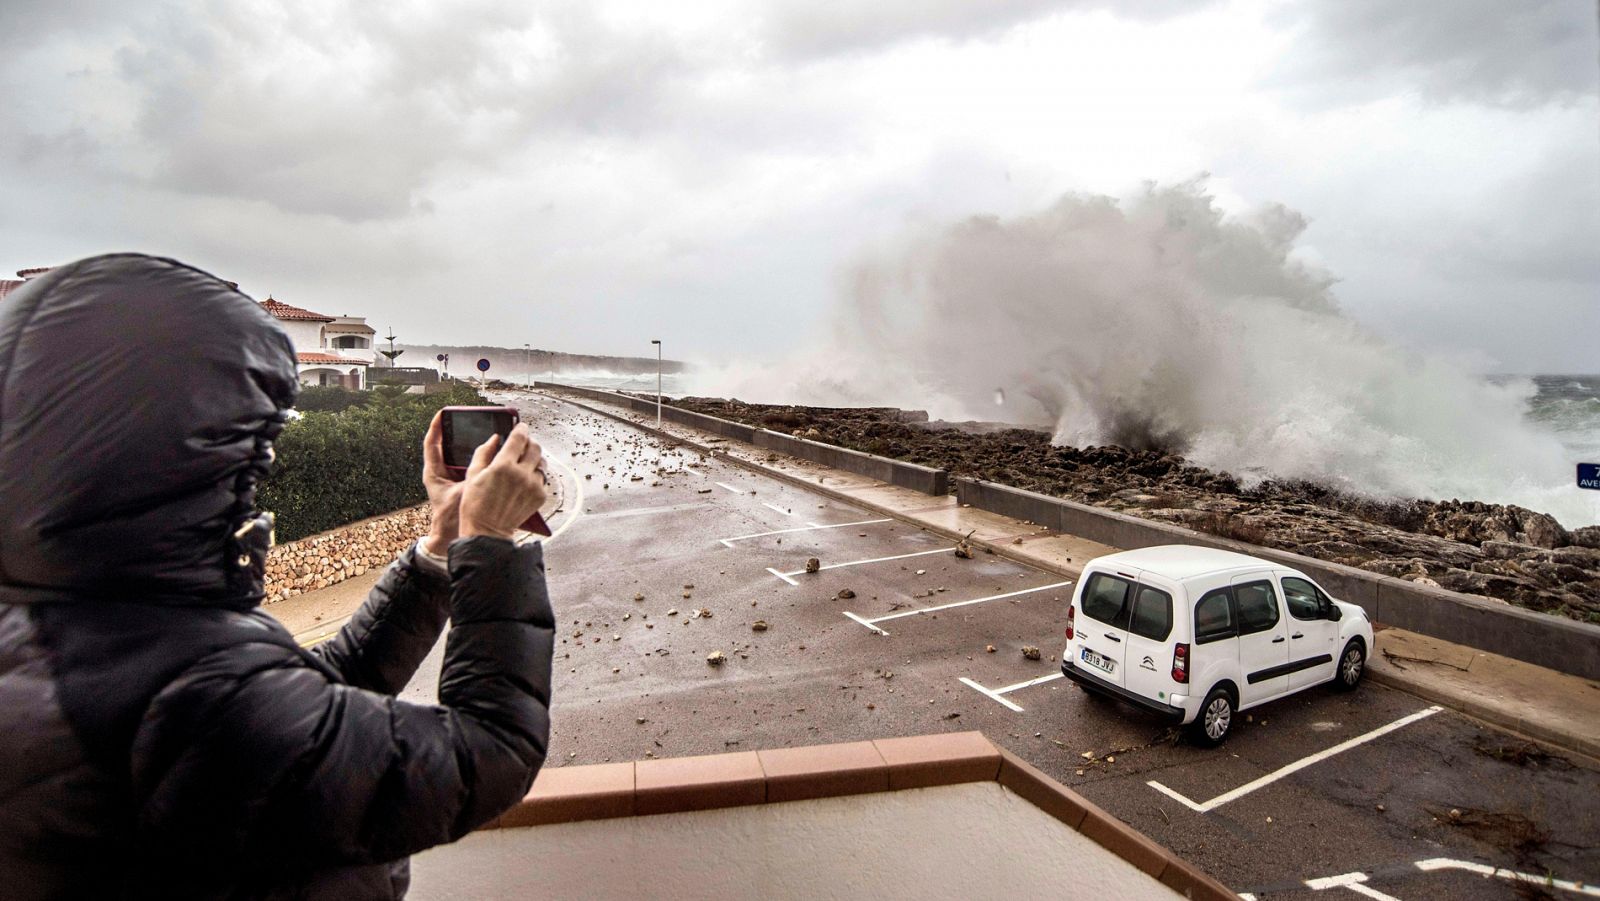
[[[272,317],[171,259],[0,301],[0,898],[398,898],[406,855],[533,784],[554,621],[509,536],[538,445],[451,483],[435,421],[430,535],[306,650],[259,608],[254,511],[296,392]],[[395,699],[446,618],[438,706]]]

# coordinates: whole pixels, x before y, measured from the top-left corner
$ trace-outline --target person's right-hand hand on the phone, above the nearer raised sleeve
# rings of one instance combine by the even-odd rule
[[[490,435],[472,453],[467,480],[461,491],[461,536],[488,535],[510,538],[512,531],[539,512],[547,496],[544,450],[528,435],[528,424],[518,422],[499,446],[499,435]]]

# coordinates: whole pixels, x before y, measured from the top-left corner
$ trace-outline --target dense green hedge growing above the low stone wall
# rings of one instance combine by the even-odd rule
[[[328,389],[306,389],[314,405],[333,406]],[[342,389],[333,389],[342,390]],[[488,403],[462,382],[438,394],[347,392],[338,410],[307,410],[277,440],[277,464],[256,506],[278,517],[278,541],[294,541],[427,499],[422,490],[422,435],[434,413],[451,405]],[[338,398],[342,400],[342,398]]]

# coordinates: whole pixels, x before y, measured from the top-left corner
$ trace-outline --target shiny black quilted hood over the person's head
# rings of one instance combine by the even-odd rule
[[[0,600],[253,607],[256,482],[299,390],[259,304],[94,256],[0,301]]]

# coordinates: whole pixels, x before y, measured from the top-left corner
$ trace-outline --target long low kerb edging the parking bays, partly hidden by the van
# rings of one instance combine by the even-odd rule
[[[800,479],[800,477],[792,475],[789,472],[784,472],[781,469],[763,466],[760,463],[755,463],[755,461],[750,461],[750,459],[742,459],[739,456],[728,455],[728,453],[718,455],[717,448],[712,448],[709,445],[702,445],[702,443],[690,440],[690,438],[683,438],[683,437],[674,435],[674,434],[666,432],[666,430],[656,430],[651,426],[645,426],[642,422],[635,422],[635,421],[632,421],[632,419],[629,419],[626,416],[619,416],[619,414],[611,413],[608,410],[600,410],[597,406],[590,406],[587,403],[581,403],[578,400],[573,400],[570,397],[563,397],[563,395],[555,394],[555,392],[542,392],[541,390],[538,394],[542,394],[544,397],[550,397],[554,400],[560,400],[563,403],[571,403],[573,406],[578,406],[581,410],[587,410],[589,413],[595,413],[595,414],[605,416],[608,419],[616,419],[618,422],[624,422],[627,426],[632,426],[632,427],[635,427],[635,429],[638,429],[638,430],[642,430],[645,434],[654,435],[654,437],[667,440],[667,442],[674,442],[674,443],[678,443],[678,445],[685,445],[685,446],[694,448],[694,450],[698,450],[698,451],[701,451],[701,453],[704,453],[707,456],[715,456],[718,459],[725,459],[728,463],[733,463],[734,466],[749,469],[752,472],[760,472],[762,475],[768,475],[771,479],[778,479],[778,480],[786,482],[789,485],[797,485],[797,487],[802,487],[802,488],[808,488],[811,491],[816,491],[816,493],[824,495],[827,498],[832,498],[835,501],[843,501],[843,503],[848,503],[848,504],[854,504],[858,507],[869,509],[869,511],[872,511],[875,514],[893,517],[893,519],[901,520],[901,522],[904,522],[907,525],[915,525],[917,528],[923,528],[923,530],[931,531],[934,535],[942,535],[942,536],[952,538],[952,539],[962,539],[962,538],[965,538],[965,535],[962,535],[958,531],[941,528],[941,527],[923,523],[923,522],[917,522],[915,519],[907,517],[901,511],[894,511],[891,507],[886,507],[886,506],[882,506],[882,504],[875,504],[872,501],[864,501],[864,499],[856,498],[856,496],[853,496],[853,495],[850,495],[846,491],[837,491],[834,488],[829,488],[827,485],[818,485],[814,482],[810,482],[806,479]],[[685,427],[690,427],[690,426],[685,426]],[[995,514],[995,515],[1000,515],[1000,514]],[[1013,560],[1016,563],[1034,567],[1035,570],[1043,570],[1046,573],[1054,573],[1054,575],[1067,576],[1067,578],[1074,578],[1074,579],[1082,575],[1082,568],[1067,568],[1067,567],[1061,567],[1061,565],[1053,565],[1053,563],[1050,563],[1046,560],[1038,560],[1038,559],[1034,559],[1034,557],[1019,555],[1019,554],[1011,552],[1010,546],[1005,546],[1005,544],[995,544],[995,543],[982,541],[982,539],[978,539],[978,538],[970,538],[968,543],[973,544],[974,547],[989,551],[989,552],[995,554],[997,557],[1005,557],[1006,560]],[[1584,757],[1590,757],[1590,759],[1595,759],[1597,762],[1600,762],[1600,739],[1589,738],[1589,736],[1584,736],[1584,735],[1578,735],[1578,733],[1568,731],[1568,730],[1552,730],[1552,728],[1549,728],[1549,727],[1546,727],[1542,723],[1530,722],[1525,717],[1518,717],[1518,715],[1514,715],[1514,714],[1510,714],[1507,711],[1502,711],[1502,709],[1498,709],[1498,707],[1491,707],[1491,706],[1478,701],[1477,698],[1474,698],[1470,695],[1459,693],[1459,691],[1443,691],[1438,687],[1430,685],[1430,683],[1427,683],[1424,680],[1410,679],[1410,677],[1402,675],[1398,672],[1392,672],[1392,671],[1389,671],[1387,667],[1382,667],[1382,666],[1374,667],[1374,666],[1371,666],[1371,661],[1368,661],[1368,666],[1366,666],[1366,679],[1370,679],[1370,680],[1373,680],[1373,682],[1376,682],[1379,685],[1384,685],[1387,688],[1395,688],[1398,691],[1405,691],[1406,695],[1414,695],[1414,696],[1422,698],[1426,701],[1432,701],[1435,704],[1443,704],[1443,706],[1446,706],[1446,707],[1450,707],[1450,709],[1453,709],[1453,711],[1456,711],[1459,714],[1469,715],[1469,717],[1472,717],[1475,720],[1482,720],[1482,722],[1485,722],[1485,723],[1488,723],[1488,725],[1491,725],[1494,728],[1506,730],[1506,731],[1510,731],[1510,733],[1530,738],[1533,741],[1550,744],[1550,746],[1558,747],[1558,749],[1566,751],[1566,752],[1582,754]]]

